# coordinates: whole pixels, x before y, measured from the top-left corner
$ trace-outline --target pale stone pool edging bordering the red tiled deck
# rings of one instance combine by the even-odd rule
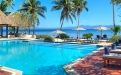
[[[67,73],[67,75],[79,75],[73,68],[72,66],[77,64],[78,62],[85,60],[87,57],[91,57],[93,54],[99,52],[100,50],[104,49],[104,47],[98,48],[94,51],[92,51],[91,53],[87,54],[86,56],[82,57],[82,58],[78,58],[74,61],[72,61],[71,63],[64,65],[63,68],[65,70],[65,72]]]

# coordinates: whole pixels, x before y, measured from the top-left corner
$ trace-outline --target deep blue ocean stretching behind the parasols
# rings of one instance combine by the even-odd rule
[[[56,29],[37,29],[35,31],[36,35],[50,35],[50,36],[56,36],[57,34],[51,34],[52,31],[54,31]],[[76,30],[72,30],[72,29],[62,29],[63,32],[65,32],[67,35],[69,35],[70,37],[76,38],[77,34],[76,34]],[[21,33],[22,31],[19,31],[19,33]],[[30,34],[32,34],[33,31],[30,31]],[[95,30],[95,29],[86,29],[86,30],[80,30],[79,31],[79,37],[82,37],[83,34],[85,33],[92,33],[93,36],[92,38],[96,38],[96,35],[101,35],[101,31],[100,30]],[[113,32],[111,30],[103,30],[102,31],[102,35],[106,34],[108,38],[111,38],[113,36]],[[5,30],[4,30],[4,35],[5,35]],[[120,35],[120,34],[119,34]]]

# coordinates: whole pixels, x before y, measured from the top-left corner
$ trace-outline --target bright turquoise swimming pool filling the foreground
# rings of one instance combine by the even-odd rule
[[[66,75],[64,65],[97,48],[87,44],[4,40],[0,41],[0,65],[22,70],[24,75]]]

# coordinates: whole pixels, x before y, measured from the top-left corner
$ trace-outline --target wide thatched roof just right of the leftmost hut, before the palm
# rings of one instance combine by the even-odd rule
[[[26,28],[26,29],[32,26],[32,23],[31,21],[28,21],[27,16],[20,12],[10,13],[8,15],[8,18],[14,22],[14,25],[12,26]]]

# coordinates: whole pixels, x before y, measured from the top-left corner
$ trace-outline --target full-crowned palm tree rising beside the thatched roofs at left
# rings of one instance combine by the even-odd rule
[[[45,6],[41,6],[39,0],[27,0],[21,4],[22,8],[19,10],[28,16],[28,19],[33,25],[33,35],[35,34],[35,25],[39,25],[38,15],[45,18],[44,12],[47,11]]]

